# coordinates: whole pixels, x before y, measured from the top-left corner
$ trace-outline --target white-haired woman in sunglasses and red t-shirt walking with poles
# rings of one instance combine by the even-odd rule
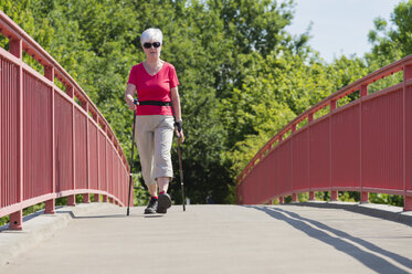
[[[125,94],[129,108],[136,112],[135,141],[145,185],[151,196],[145,214],[166,213],[171,207],[167,191],[173,177],[170,157],[173,128],[178,138],[184,140],[179,81],[175,66],[160,60],[162,38],[159,29],[141,33],[140,43],[146,60],[131,67]],[[137,104],[134,103],[136,92]]]

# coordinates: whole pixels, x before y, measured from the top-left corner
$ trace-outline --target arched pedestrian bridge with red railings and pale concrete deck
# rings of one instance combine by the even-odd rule
[[[276,134],[237,178],[243,205],[173,205],[166,215],[133,208],[126,217],[129,167],[106,119],[1,11],[0,33],[9,41],[0,48],[0,217],[10,215],[0,273],[412,273],[411,215],[403,212],[412,210],[412,56]],[[394,73],[401,83],[368,92]],[[331,202],[319,207],[315,191],[329,191]],[[366,204],[341,205],[338,191],[359,191]],[[283,204],[302,192],[311,201]],[[403,209],[371,209],[369,192],[402,196]],[[84,203],[75,204],[76,194]],[[67,207],[55,207],[61,197]],[[254,205],[274,199],[281,204]],[[23,219],[40,202],[45,214]]]

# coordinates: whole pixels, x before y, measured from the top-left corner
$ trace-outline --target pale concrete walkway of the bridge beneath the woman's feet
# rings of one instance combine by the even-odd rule
[[[0,273],[412,273],[412,226],[342,209],[142,211],[134,208],[126,217],[125,208],[80,204],[33,218],[22,232],[2,231]],[[41,218],[45,221],[35,221]],[[40,223],[47,220],[45,230]],[[8,244],[24,238],[32,240],[8,253]]]

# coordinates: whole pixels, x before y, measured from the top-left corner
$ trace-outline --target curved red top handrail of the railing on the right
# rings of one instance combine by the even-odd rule
[[[237,176],[236,178],[236,186],[237,189],[244,182],[245,178],[253,172],[256,166],[265,159],[275,148],[282,147],[282,145],[286,141],[286,139],[283,139],[283,136],[286,133],[290,133],[290,136],[296,134],[296,127],[299,123],[307,120],[307,125],[299,128],[300,130],[305,130],[305,128],[309,127],[310,125],[317,123],[318,119],[323,119],[324,117],[320,117],[316,120],[314,120],[314,115],[319,112],[320,109],[325,107],[330,107],[330,114],[334,112],[339,112],[340,108],[344,107],[337,107],[337,101],[348,96],[357,91],[360,91],[360,98],[358,98],[356,102],[360,102],[361,99],[365,99],[368,96],[368,85],[371,83],[374,83],[378,80],[384,78],[387,76],[392,75],[393,73],[403,71],[404,72],[404,82],[403,85],[409,83],[411,75],[411,66],[412,66],[412,55],[405,56],[402,60],[394,62],[392,64],[389,64],[376,72],[370,73],[369,75],[349,84],[348,86],[345,86],[344,88],[339,89],[338,92],[331,94],[327,98],[323,99],[318,104],[314,105],[313,107],[308,108],[306,112],[302,113],[299,116],[297,116],[295,119],[293,119],[290,123],[288,123],[284,128],[282,128],[277,134],[275,134],[253,157],[253,159],[246,165],[246,167],[243,169],[243,171]],[[405,72],[406,71],[406,72]],[[405,88],[405,86],[403,86]],[[371,95],[370,95],[371,96]],[[352,102],[353,103],[353,102]],[[351,104],[352,104],[351,103]],[[329,115],[330,115],[329,114]],[[289,136],[289,137],[290,137]],[[288,137],[288,138],[289,138]],[[287,139],[288,139],[287,138]],[[277,141],[277,144],[275,144]],[[406,196],[406,191],[405,191]],[[409,191],[408,191],[409,197]]]

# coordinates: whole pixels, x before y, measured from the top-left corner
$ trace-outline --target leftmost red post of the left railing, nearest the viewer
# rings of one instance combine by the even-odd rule
[[[23,42],[21,40],[11,39],[9,42],[10,53],[18,59],[22,59],[23,55]],[[17,187],[17,202],[23,201],[23,175],[24,175],[24,161],[23,161],[23,68],[19,66],[19,78],[18,78],[18,178],[15,180]],[[10,230],[22,230],[23,229],[23,210],[10,214]]]

